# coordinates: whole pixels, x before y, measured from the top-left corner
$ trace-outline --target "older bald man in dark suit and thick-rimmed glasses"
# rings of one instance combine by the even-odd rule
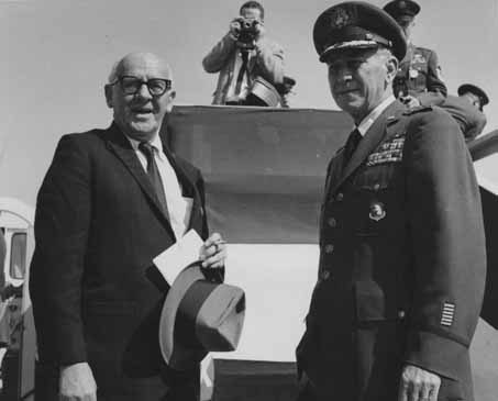
[[[168,65],[153,54],[113,68],[107,130],[65,135],[40,189],[30,290],[40,400],[196,400],[198,369],[162,360],[158,322],[170,282],[153,258],[187,230],[208,238],[200,171],[159,129],[173,108]],[[219,234],[200,249],[221,268]]]

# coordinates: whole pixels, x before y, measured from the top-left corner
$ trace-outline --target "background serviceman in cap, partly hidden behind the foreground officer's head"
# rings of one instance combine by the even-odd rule
[[[442,101],[447,93],[434,51],[411,43],[414,18],[420,5],[412,0],[394,0],[384,10],[402,27],[408,41],[405,58],[394,81],[394,92],[409,107],[429,105]]]

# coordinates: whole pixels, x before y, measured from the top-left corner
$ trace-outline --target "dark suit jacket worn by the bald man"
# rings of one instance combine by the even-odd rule
[[[165,153],[184,196],[193,198],[189,227],[206,238],[200,171]],[[181,382],[171,385],[175,374],[161,357],[158,320],[169,287],[152,263],[174,232],[115,124],[60,140],[38,192],[35,240],[37,391],[48,391],[47,371],[79,361],[90,364],[99,400],[159,400]]]

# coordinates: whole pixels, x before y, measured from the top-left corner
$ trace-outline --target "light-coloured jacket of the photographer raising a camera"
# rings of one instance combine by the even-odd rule
[[[209,54],[202,59],[207,73],[219,73],[217,89],[212,104],[224,104],[231,85],[234,85],[236,40],[226,34],[218,42]],[[256,42],[254,54],[248,62],[250,83],[257,77],[263,77],[272,85],[284,82],[284,49],[277,43],[267,38]]]

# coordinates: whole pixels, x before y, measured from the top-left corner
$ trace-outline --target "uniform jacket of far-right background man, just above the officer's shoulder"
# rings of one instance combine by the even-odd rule
[[[466,141],[474,140],[483,132],[486,125],[486,115],[474,108],[466,99],[449,94],[439,105],[455,119]]]

